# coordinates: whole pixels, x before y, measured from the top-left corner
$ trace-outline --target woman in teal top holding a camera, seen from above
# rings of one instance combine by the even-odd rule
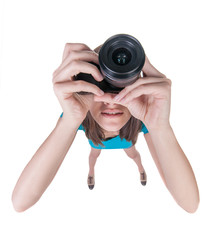
[[[94,84],[75,80],[80,72],[97,81],[103,76],[89,62],[98,62],[99,46],[66,44],[61,65],[53,73],[54,92],[63,109],[56,127],[23,170],[12,194],[15,210],[35,204],[51,183],[67,154],[78,129],[85,131],[91,145],[88,185],[94,187],[94,166],[105,148],[123,148],[146,184],[146,173],[135,148],[137,136],[144,132],[159,173],[176,200],[188,212],[195,212],[199,191],[190,163],[170,125],[171,80],[152,66],[146,57],[142,77],[119,94],[104,93]],[[91,94],[81,95],[85,91]]]

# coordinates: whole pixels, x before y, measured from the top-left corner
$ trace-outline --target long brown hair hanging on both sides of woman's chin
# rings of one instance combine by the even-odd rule
[[[104,147],[102,141],[105,141],[105,135],[100,125],[93,119],[91,113],[88,111],[86,118],[82,122],[85,129],[86,137],[97,146],[100,144]],[[125,138],[127,141],[132,141],[134,145],[138,138],[138,133],[141,131],[141,121],[131,116],[129,121],[120,129],[119,136],[121,139]]]

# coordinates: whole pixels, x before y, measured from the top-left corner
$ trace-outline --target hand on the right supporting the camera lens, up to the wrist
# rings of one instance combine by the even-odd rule
[[[148,129],[168,126],[171,80],[159,72],[147,56],[142,72],[143,77],[125,87],[112,101],[127,107]],[[105,94],[102,97],[95,97],[95,101],[110,102],[111,97]]]

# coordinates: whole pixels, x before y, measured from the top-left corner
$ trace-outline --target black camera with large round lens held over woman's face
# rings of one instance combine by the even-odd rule
[[[91,74],[79,73],[75,80],[95,84],[106,93],[119,93],[134,83],[145,63],[145,53],[140,42],[128,34],[117,34],[107,39],[99,51],[99,65],[91,62],[104,76],[97,82]]]

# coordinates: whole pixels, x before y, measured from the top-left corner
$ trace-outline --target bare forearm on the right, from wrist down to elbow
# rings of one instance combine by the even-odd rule
[[[191,165],[169,125],[149,131],[165,184],[176,202],[188,212],[199,203],[199,192]]]

